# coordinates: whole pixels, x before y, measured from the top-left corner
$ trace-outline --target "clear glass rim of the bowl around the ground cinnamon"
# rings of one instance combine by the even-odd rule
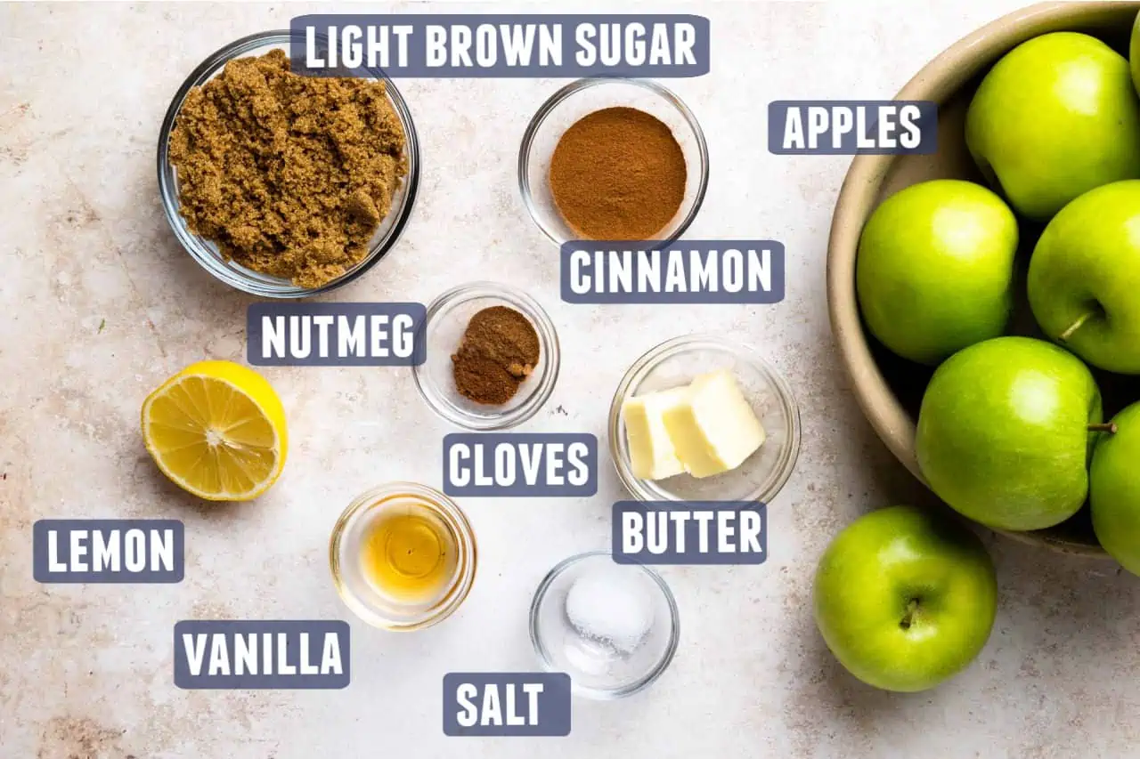
[[[689,230],[690,225],[693,223],[693,220],[700,212],[701,206],[705,204],[705,193],[708,190],[709,183],[709,148],[705,140],[705,130],[701,129],[700,122],[697,121],[697,116],[689,108],[689,106],[685,105],[685,101],[674,93],[673,90],[650,79],[634,79],[627,76],[591,76],[587,79],[579,79],[559,89],[554,95],[547,98],[542,106],[539,106],[538,111],[535,112],[535,115],[531,116],[530,123],[527,124],[527,131],[523,132],[522,142],[519,146],[519,191],[522,195],[522,203],[527,206],[527,212],[530,214],[535,225],[555,245],[562,245],[563,243],[569,242],[570,238],[563,239],[555,230],[551,229],[551,227],[543,221],[543,214],[539,211],[537,203],[535,203],[535,196],[530,188],[530,148],[534,145],[535,136],[538,134],[538,130],[542,129],[543,123],[567,98],[580,92],[581,90],[598,87],[601,84],[612,84],[614,82],[642,87],[660,96],[674,108],[676,108],[682,117],[684,117],[689,128],[693,130],[693,136],[697,140],[697,148],[700,153],[700,172],[697,193],[693,196],[692,207],[689,209],[689,213],[685,214],[685,218],[682,219],[679,225],[677,225],[677,228],[673,231],[673,234],[662,242],[671,243],[684,235]]]

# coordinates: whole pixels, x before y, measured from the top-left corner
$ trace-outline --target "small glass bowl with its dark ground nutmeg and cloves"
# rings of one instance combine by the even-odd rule
[[[506,430],[551,397],[559,337],[543,307],[508,285],[477,281],[427,307],[418,340],[426,360],[413,368],[420,394],[441,417],[467,430]]]

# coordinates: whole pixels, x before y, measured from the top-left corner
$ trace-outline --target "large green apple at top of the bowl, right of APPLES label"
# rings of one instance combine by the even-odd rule
[[[1013,209],[1037,221],[1093,187],[1140,178],[1129,62],[1088,34],[1023,42],[978,85],[966,145]]]

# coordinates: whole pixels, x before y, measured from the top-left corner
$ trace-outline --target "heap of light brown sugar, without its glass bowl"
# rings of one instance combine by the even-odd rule
[[[233,261],[319,287],[359,263],[407,173],[384,82],[302,76],[284,50],[193,89],[170,137],[181,213]]]

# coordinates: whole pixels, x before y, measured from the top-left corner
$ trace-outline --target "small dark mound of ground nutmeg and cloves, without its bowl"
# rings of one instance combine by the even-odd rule
[[[456,390],[477,403],[502,406],[534,372],[539,352],[530,319],[505,305],[483,309],[471,317],[451,356]]]

